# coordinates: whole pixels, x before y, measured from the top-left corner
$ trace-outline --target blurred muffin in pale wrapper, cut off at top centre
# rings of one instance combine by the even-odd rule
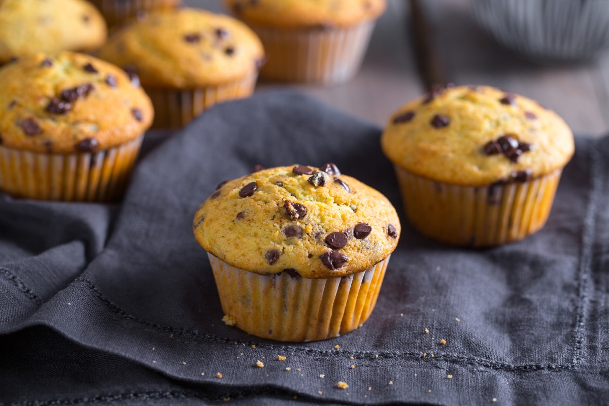
[[[385,0],[225,0],[259,35],[265,79],[340,83],[361,66]]]

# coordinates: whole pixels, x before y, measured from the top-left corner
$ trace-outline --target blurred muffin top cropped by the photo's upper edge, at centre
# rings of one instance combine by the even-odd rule
[[[385,0],[225,0],[249,24],[276,28],[348,27],[378,18]]]

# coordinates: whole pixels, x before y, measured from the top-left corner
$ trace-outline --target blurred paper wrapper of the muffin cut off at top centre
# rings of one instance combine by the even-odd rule
[[[374,26],[375,21],[300,31],[253,26],[267,55],[261,77],[283,82],[347,82],[362,65]]]

